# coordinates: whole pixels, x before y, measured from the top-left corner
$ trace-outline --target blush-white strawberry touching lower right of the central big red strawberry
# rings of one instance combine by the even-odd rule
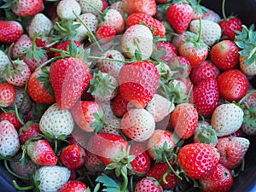
[[[148,102],[146,110],[154,117],[155,122],[160,122],[174,109],[174,104],[165,97],[154,94],[153,99]]]

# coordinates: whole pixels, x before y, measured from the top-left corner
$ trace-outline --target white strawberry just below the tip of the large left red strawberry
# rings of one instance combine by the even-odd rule
[[[68,110],[61,109],[57,103],[52,104],[39,122],[40,131],[50,138],[67,137],[73,131],[74,121]]]

